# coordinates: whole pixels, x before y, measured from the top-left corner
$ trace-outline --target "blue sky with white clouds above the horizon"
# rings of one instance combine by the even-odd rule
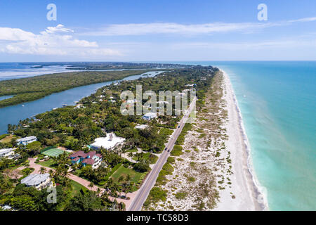
[[[48,4],[57,20],[48,21]],[[268,6],[259,21],[258,4]],[[316,1],[0,1],[0,62],[316,60]]]

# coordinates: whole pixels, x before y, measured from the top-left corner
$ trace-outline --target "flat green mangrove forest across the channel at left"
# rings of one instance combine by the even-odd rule
[[[27,101],[34,101],[49,94],[72,89],[76,86],[96,84],[122,79],[131,75],[140,75],[149,70],[63,72],[53,75],[41,75],[22,79],[10,79],[0,82],[0,96],[14,95],[0,101],[0,108]]]

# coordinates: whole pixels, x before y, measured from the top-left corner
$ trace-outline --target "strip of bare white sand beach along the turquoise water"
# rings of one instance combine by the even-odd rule
[[[268,210],[267,200],[251,166],[251,149],[235,92],[227,73],[220,72],[223,73],[223,98],[228,110],[226,146],[232,154],[232,190],[236,198],[232,199],[229,191],[220,191],[220,202],[215,210]]]

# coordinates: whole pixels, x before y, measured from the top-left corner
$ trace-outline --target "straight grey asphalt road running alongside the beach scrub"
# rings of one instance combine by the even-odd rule
[[[166,145],[167,150],[163,150],[162,155],[160,155],[159,159],[157,160],[157,163],[152,168],[152,171],[146,177],[143,185],[140,187],[140,190],[138,191],[133,202],[131,203],[128,211],[140,211],[141,210],[143,204],[145,203],[145,200],[147,199],[147,197],[150,193],[150,190],[152,189],[152,187],[156,183],[156,179],[159,175],[160,170],[162,170],[162,167],[166,163],[166,160],[169,158],[171,150],[173,149],[173,146],[175,145],[176,140],[178,139],[178,136],[180,135],[180,133],[185,125],[185,122],[187,121],[187,118],[190,116],[190,113],[192,112],[192,110],[195,109],[196,101],[197,101],[197,98],[195,98],[192,101],[192,103],[190,104],[190,108],[187,110],[187,113],[180,120],[177,129],[173,132],[169,143]]]

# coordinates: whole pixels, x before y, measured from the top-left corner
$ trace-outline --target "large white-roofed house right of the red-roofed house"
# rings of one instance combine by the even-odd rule
[[[121,145],[122,143],[124,143],[124,141],[125,141],[124,138],[120,136],[116,136],[114,133],[110,133],[110,134],[107,134],[106,137],[95,139],[94,143],[92,143],[90,147],[95,150],[98,150],[101,147],[107,150],[110,150],[112,148],[115,148]]]

